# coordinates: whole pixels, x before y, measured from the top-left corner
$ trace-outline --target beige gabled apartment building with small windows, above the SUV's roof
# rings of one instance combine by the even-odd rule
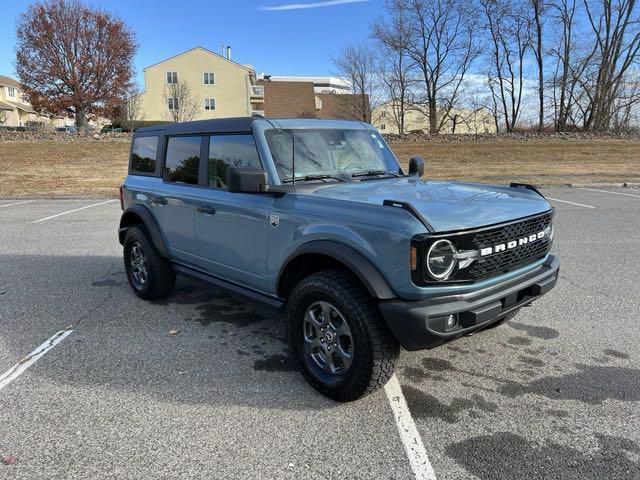
[[[219,55],[204,47],[158,62],[144,69],[145,90],[141,93],[138,119],[171,121],[171,85],[184,82],[199,107],[191,120],[246,117],[261,113],[264,89],[255,85],[249,65],[231,60],[231,51]]]

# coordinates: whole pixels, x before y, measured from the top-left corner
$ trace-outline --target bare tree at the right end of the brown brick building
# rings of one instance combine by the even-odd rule
[[[360,98],[354,117],[370,122],[376,80],[376,58],[371,47],[364,42],[349,45],[332,61],[338,75],[351,82],[352,93]]]

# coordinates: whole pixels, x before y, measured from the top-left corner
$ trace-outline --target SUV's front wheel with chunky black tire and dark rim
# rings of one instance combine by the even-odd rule
[[[318,272],[300,281],[287,315],[291,350],[320,393],[353,401],[382,388],[393,375],[398,342],[375,301],[347,272]]]

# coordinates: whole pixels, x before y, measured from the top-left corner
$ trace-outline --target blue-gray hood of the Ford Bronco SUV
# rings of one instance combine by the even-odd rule
[[[315,185],[314,185],[315,186]],[[422,181],[415,177],[318,185],[305,193],[382,205],[413,205],[436,232],[483,227],[546,212],[549,203],[532,190],[480,183]],[[392,208],[392,207],[389,207]]]

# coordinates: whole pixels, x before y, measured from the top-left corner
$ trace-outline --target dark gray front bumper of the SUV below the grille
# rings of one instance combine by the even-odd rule
[[[559,271],[560,261],[549,255],[539,268],[499,285],[422,301],[390,300],[381,302],[380,310],[406,350],[430,349],[491,325],[540,298],[555,286]],[[450,329],[449,315],[457,315]]]

